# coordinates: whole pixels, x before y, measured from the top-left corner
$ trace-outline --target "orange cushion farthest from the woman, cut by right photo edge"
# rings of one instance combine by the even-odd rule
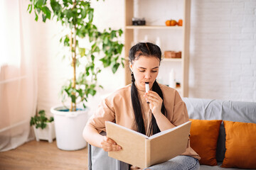
[[[226,134],[223,168],[256,169],[256,123],[224,121]]]

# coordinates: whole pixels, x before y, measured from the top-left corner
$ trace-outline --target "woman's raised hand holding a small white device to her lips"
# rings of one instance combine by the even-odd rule
[[[153,114],[161,113],[161,105],[163,100],[155,91],[149,91],[144,94],[146,101],[149,102],[149,108],[151,109]]]

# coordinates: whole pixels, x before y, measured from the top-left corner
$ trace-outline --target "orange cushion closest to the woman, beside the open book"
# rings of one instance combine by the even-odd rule
[[[216,148],[222,120],[191,121],[191,148],[201,157],[200,164],[217,165]]]

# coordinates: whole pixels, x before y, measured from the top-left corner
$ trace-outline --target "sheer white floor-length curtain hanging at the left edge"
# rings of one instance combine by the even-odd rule
[[[36,112],[36,57],[26,0],[0,1],[0,152],[30,138]]]

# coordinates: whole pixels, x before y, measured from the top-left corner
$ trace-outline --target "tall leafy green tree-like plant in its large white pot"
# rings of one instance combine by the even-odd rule
[[[97,74],[102,67],[112,67],[117,72],[119,65],[124,67],[124,59],[120,57],[123,44],[119,42],[122,30],[99,31],[92,23],[94,8],[90,1],[82,0],[30,0],[28,11],[42,15],[43,22],[54,19],[68,30],[69,34],[60,38],[60,42],[70,49],[73,77],[61,89],[63,106],[51,108],[55,119],[56,141],[59,149],[75,150],[86,146],[82,138],[82,130],[87,122],[87,98],[95,96]],[[80,40],[87,41],[87,48],[80,45]],[[95,62],[102,62],[102,67],[96,67]],[[82,63],[85,63],[84,65]],[[82,72],[77,72],[82,67]],[[64,101],[70,101],[68,106]],[[78,108],[78,105],[82,108]]]

